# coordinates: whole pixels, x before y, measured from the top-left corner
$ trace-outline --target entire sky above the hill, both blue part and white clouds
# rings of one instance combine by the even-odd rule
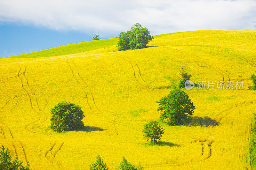
[[[152,35],[256,29],[256,0],[0,0],[0,57],[113,38],[140,23]]]

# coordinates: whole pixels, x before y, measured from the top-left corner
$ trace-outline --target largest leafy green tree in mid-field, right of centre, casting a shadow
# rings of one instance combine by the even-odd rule
[[[161,97],[157,111],[161,112],[160,119],[167,125],[180,125],[188,122],[188,115],[192,115],[195,106],[188,94],[181,89],[174,88],[167,96]]]

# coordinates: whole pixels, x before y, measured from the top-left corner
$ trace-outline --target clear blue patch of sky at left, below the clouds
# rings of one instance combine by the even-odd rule
[[[91,40],[92,35],[81,31],[56,31],[33,25],[2,22],[0,58]]]

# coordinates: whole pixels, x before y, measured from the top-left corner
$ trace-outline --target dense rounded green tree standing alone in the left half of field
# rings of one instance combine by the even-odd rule
[[[61,102],[55,106],[52,111],[51,128],[55,131],[70,131],[84,127],[82,119],[84,112],[81,107],[70,102]]]

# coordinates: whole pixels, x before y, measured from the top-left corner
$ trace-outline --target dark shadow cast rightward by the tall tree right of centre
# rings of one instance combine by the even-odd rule
[[[185,124],[187,126],[217,126],[218,125],[218,121],[210,118],[210,117],[199,117],[199,116],[188,116],[188,123]]]

